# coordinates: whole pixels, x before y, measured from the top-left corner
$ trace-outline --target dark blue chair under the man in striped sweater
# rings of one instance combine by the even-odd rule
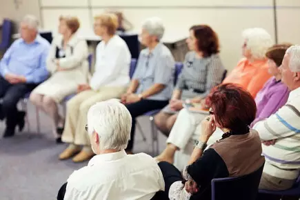
[[[257,199],[299,199],[300,198],[300,176],[294,186],[289,190],[259,190]]]

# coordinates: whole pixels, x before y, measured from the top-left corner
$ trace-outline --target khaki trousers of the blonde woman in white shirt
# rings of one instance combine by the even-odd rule
[[[61,139],[67,143],[90,146],[90,138],[86,132],[88,110],[99,101],[120,98],[126,89],[126,87],[103,87],[97,92],[86,90],[70,99],[67,102],[66,123]]]

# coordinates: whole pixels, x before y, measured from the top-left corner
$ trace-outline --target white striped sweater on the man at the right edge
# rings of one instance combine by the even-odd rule
[[[290,92],[285,106],[254,129],[261,140],[277,139],[273,146],[263,145],[266,164],[263,172],[281,179],[295,180],[300,172],[300,88]]]

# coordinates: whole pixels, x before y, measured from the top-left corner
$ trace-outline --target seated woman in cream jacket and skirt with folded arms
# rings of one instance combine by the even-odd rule
[[[59,18],[59,35],[52,41],[47,59],[50,78],[30,94],[30,101],[52,118],[54,137],[61,143],[63,117],[59,116],[58,103],[74,94],[79,84],[88,81],[88,46],[77,37],[77,17]]]

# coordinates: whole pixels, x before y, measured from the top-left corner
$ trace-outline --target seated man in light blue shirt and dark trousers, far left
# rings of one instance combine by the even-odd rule
[[[25,112],[17,110],[19,99],[47,79],[46,58],[50,43],[37,31],[38,21],[28,15],[21,22],[21,38],[12,43],[0,62],[0,119],[6,119],[3,137],[24,127]]]

